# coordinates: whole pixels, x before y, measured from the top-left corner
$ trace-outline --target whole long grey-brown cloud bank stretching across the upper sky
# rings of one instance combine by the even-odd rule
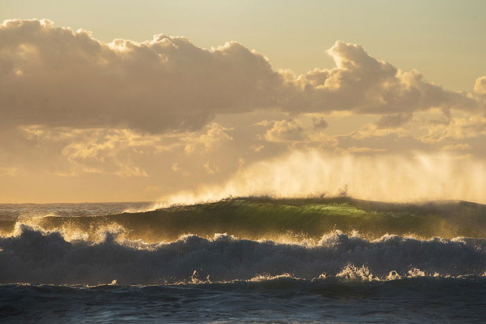
[[[45,19],[6,20],[0,26],[0,123],[163,133],[257,109],[409,116],[478,107],[468,94],[403,72],[358,44],[337,41],[328,54],[334,68],[293,76],[237,42],[202,49],[161,34],[106,44]]]

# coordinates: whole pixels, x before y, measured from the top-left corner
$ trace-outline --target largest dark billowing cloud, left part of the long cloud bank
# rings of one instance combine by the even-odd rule
[[[0,27],[4,124],[194,130],[217,112],[274,105],[280,75],[237,42],[210,50],[184,37],[114,40],[48,20]]]

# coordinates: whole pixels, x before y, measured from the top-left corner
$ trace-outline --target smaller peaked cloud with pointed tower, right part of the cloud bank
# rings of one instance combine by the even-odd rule
[[[430,108],[477,109],[478,103],[467,94],[430,83],[418,71],[403,72],[369,56],[358,44],[337,41],[327,53],[335,68],[315,69],[296,78],[301,102],[306,103],[302,110],[399,114]]]

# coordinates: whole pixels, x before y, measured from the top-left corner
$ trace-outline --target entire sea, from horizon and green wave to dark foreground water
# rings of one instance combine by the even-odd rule
[[[486,205],[0,204],[0,323],[486,323]]]

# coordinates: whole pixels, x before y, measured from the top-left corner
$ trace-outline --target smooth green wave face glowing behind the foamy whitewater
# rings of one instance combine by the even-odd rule
[[[217,203],[174,206],[140,213],[54,217],[37,220],[47,230],[71,228],[94,233],[107,225],[124,228],[128,239],[172,241],[191,233],[228,233],[248,239],[319,239],[324,233],[358,231],[369,239],[386,234],[415,237],[486,235],[486,205],[464,201],[417,204],[378,203],[352,198],[231,198]],[[15,222],[4,221],[3,231]]]

